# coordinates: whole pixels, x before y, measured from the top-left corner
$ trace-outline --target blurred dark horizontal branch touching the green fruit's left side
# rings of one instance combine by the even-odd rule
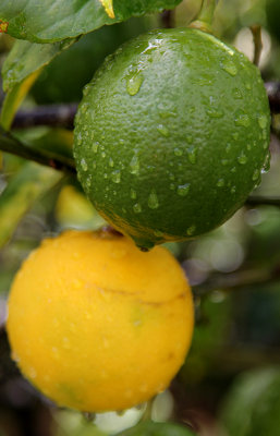
[[[37,106],[34,109],[19,111],[13,121],[13,129],[27,129],[36,125],[73,129],[77,105]]]

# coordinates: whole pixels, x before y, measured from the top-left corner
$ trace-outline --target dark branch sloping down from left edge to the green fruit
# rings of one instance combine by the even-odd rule
[[[51,167],[59,171],[76,173],[74,159],[62,155],[53,155],[46,149],[32,148],[10,133],[0,128],[0,150],[20,156],[24,159],[33,160],[37,164]]]

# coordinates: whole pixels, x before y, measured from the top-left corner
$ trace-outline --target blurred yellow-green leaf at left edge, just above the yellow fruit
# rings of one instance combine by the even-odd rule
[[[51,168],[27,162],[0,195],[0,247],[12,237],[34,202],[54,186],[63,174]]]

